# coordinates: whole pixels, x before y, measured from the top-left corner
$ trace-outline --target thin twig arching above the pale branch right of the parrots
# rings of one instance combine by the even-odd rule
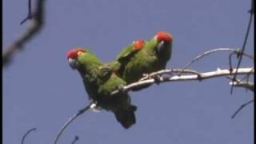
[[[197,57],[195,57],[194,59],[192,59],[192,61],[188,62],[183,68],[182,68],[182,71],[178,74],[182,74],[183,70],[185,70],[186,68],[188,68],[189,66],[191,66],[194,62],[198,61],[198,59],[200,58],[203,58],[205,57],[206,55],[209,55],[209,54],[213,54],[215,52],[218,52],[218,51],[231,51],[231,52],[235,52],[235,53],[238,53],[238,50],[235,50],[235,49],[230,49],[230,48],[217,48],[217,49],[214,49],[214,50],[208,50],[202,54],[199,54]],[[243,55],[245,55],[246,57],[248,58],[251,58],[251,59],[254,59],[253,56],[251,56],[250,54],[246,54],[246,53],[242,53]]]

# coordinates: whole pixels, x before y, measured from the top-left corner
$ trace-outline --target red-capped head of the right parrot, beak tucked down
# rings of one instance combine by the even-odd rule
[[[173,37],[171,34],[166,32],[159,32],[154,36],[157,41],[156,51],[158,54],[166,53],[171,49]]]

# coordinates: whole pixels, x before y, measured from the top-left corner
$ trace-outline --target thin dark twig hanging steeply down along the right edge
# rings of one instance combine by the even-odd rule
[[[254,0],[251,0],[251,6],[250,6],[250,20],[249,20],[249,23],[248,23],[248,26],[247,26],[247,30],[246,30],[246,37],[245,37],[245,40],[242,44],[242,50],[241,50],[241,53],[243,54],[245,49],[246,49],[246,42],[247,42],[247,39],[248,39],[248,35],[250,33],[250,25],[251,25],[251,22],[252,22],[252,19],[253,19],[253,14],[254,14]],[[237,66],[237,70],[238,68],[240,67],[241,65],[241,62],[242,62],[242,54],[241,55],[238,55],[238,66]],[[235,72],[234,74],[234,77],[233,77],[233,80],[232,82],[235,81],[235,78],[236,78],[236,75],[237,75],[237,71]],[[230,93],[232,94],[232,91],[233,91],[233,87],[234,86],[231,86],[231,90],[230,90]]]

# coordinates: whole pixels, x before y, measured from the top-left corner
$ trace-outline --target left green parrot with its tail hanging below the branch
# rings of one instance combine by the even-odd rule
[[[70,50],[67,59],[71,68],[81,74],[86,92],[97,106],[112,111],[126,129],[136,122],[134,112],[137,107],[131,104],[129,94],[110,95],[126,85],[110,66],[104,65],[90,50],[82,48]]]

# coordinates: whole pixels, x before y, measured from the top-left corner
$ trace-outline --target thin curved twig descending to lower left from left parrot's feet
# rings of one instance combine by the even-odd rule
[[[77,114],[74,114],[73,117],[71,117],[66,123],[65,125],[62,127],[62,129],[58,132],[57,137],[54,140],[54,144],[57,144],[58,142],[58,138],[62,135],[62,132],[66,129],[67,126],[70,125],[71,122],[74,121],[75,118],[78,118],[79,115],[85,113],[87,110],[92,109],[96,106],[96,104],[94,102],[90,102],[90,104],[84,108],[82,108],[82,110],[78,110]]]

